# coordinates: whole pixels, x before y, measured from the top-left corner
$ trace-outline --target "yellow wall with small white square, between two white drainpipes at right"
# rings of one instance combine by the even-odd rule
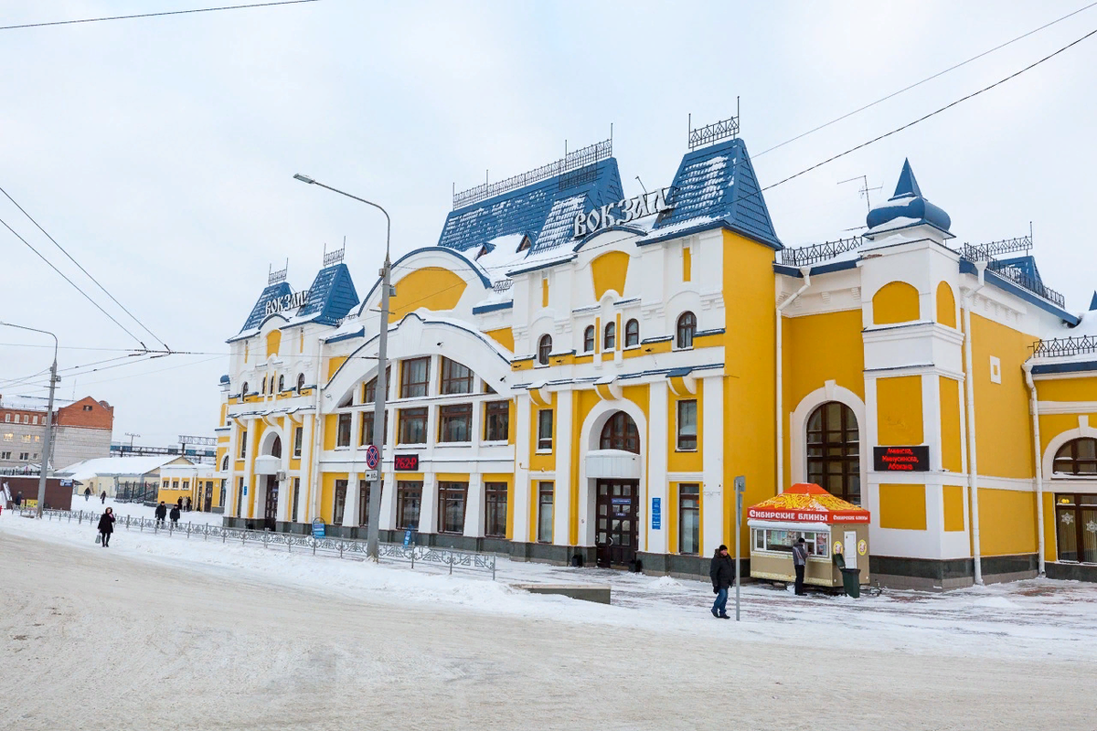
[[[1021,364],[1036,341],[972,312],[972,378],[980,475],[1031,478],[1032,418]],[[991,356],[1002,359],[1002,382],[991,381]],[[1077,419],[1075,419],[1075,427]]]

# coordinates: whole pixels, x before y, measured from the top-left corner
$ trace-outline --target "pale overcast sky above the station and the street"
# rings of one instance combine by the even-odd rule
[[[0,0],[0,25],[183,10],[196,0]],[[395,255],[437,243],[457,190],[609,136],[625,195],[668,185],[694,124],[734,114],[771,184],[997,81],[1097,28],[1097,8],[768,148],[1086,4],[1075,2],[400,2],[357,0],[0,31],[0,186],[173,350],[136,346],[0,227],[0,320],[60,339],[59,395],[115,407],[115,439],[213,433],[236,334],[290,260],[307,287],[347,237],[361,294],[384,219]],[[1019,78],[766,194],[787,245],[850,236],[908,157],[958,241],[1036,231],[1067,309],[1094,277],[1097,36]],[[155,340],[0,196],[0,218],[150,347]],[[75,274],[73,274],[75,272]],[[46,336],[0,328],[0,393],[44,396]],[[19,345],[16,345],[19,344]],[[105,363],[101,366],[111,366]],[[76,374],[76,375],[73,375]]]

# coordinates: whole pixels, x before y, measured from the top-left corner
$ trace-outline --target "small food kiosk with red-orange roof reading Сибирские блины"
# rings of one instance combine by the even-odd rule
[[[869,582],[869,511],[835,498],[817,484],[801,482],[747,509],[750,527],[750,576],[794,581],[792,545],[807,545],[804,583],[842,586],[835,555],[846,569],[859,571],[858,584]]]

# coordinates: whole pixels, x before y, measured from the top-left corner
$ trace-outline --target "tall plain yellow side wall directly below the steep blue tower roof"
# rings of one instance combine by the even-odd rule
[[[744,505],[777,492],[777,297],[773,286],[773,251],[731,231],[724,231],[723,295],[725,312],[724,424],[724,530],[721,542],[734,539],[736,475],[746,477]],[[709,404],[711,407],[711,404]],[[704,495],[702,488],[702,510]],[[703,518],[702,518],[703,519]],[[749,530],[743,522],[743,545]],[[708,540],[715,540],[709,536]]]

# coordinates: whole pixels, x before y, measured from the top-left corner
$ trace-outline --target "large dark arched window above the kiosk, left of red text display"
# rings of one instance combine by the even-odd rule
[[[861,442],[857,416],[829,401],[807,418],[807,481],[836,498],[861,504]]]

